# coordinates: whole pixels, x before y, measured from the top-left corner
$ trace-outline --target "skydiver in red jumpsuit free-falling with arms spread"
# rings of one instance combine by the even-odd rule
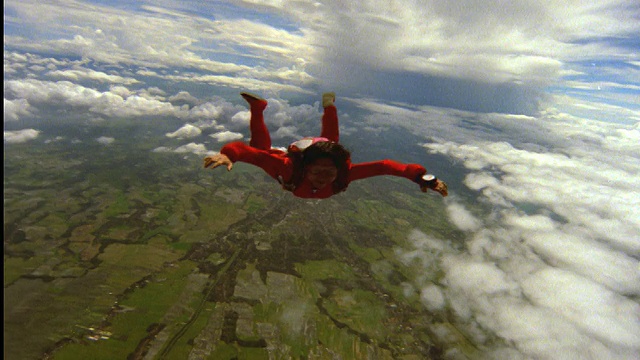
[[[300,198],[324,199],[347,189],[349,183],[380,175],[407,178],[420,186],[423,192],[433,190],[447,196],[447,185],[427,175],[418,164],[403,164],[381,160],[359,164],[351,163],[351,153],[338,143],[338,111],[335,93],[322,95],[322,131],[320,137],[308,137],[291,144],[287,151],[271,148],[271,137],[264,123],[263,112],[267,100],[250,93],[240,94],[249,104],[251,120],[249,145],[236,141],[225,145],[219,154],[204,158],[204,167],[214,169],[241,161],[262,168],[278,180],[282,188]]]

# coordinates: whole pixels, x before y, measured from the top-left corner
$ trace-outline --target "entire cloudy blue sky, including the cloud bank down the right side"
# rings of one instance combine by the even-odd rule
[[[154,151],[199,165],[247,140],[240,91],[286,146],[333,90],[344,141],[451,176],[465,248],[408,234],[398,256],[444,275],[407,291],[511,344],[494,358],[640,352],[637,1],[12,0],[4,25],[5,146],[124,141],[49,133],[61,118],[166,121]]]

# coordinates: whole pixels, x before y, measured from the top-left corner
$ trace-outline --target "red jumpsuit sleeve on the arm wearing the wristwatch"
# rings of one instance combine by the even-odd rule
[[[418,183],[419,178],[427,173],[427,169],[418,164],[403,164],[393,160],[380,160],[351,165],[349,182],[373,176],[399,176]]]

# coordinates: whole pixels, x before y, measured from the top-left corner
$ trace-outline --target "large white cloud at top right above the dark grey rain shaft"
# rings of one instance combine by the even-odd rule
[[[453,6],[437,1],[367,1],[329,2],[311,10],[306,3],[282,1],[270,6],[304,24],[309,33],[305,40],[321,45],[311,62],[319,60],[326,75],[333,71],[344,76],[345,70],[357,71],[360,66],[363,70],[546,84],[569,59],[617,55],[615,47],[581,46],[577,39],[638,30],[632,16],[619,20],[620,13],[628,9],[615,2],[598,7],[564,4],[489,1]],[[335,13],[341,16],[330,16]],[[562,14],[562,21],[556,14]],[[589,23],[601,24],[604,33],[593,33]]]

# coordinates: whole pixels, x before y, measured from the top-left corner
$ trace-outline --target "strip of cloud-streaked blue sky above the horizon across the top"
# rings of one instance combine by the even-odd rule
[[[5,73],[529,114],[571,89],[632,106],[639,16],[633,1],[9,1]]]

